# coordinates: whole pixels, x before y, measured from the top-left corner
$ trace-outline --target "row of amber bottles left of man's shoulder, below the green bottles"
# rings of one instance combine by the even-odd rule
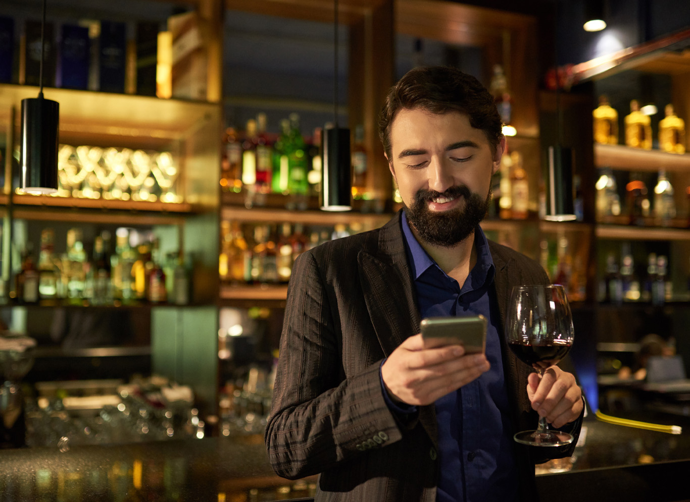
[[[305,250],[369,230],[362,223],[333,226],[283,222],[221,221],[218,271],[222,283],[287,283],[295,259]]]

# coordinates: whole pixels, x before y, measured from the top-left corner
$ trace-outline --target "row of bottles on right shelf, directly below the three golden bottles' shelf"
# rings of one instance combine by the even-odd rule
[[[647,182],[654,183],[652,193]],[[596,215],[602,223],[624,222],[630,225],[682,226],[690,225],[690,206],[678,208],[675,190],[665,170],[660,170],[655,180],[653,174],[645,177],[632,172],[624,192],[619,190],[613,170],[603,168],[596,188]],[[690,186],[686,190],[690,203]],[[680,210],[679,210],[680,209]],[[687,214],[678,220],[679,214]]]

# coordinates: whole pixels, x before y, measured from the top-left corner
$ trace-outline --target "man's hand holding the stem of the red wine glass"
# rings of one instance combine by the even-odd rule
[[[527,395],[532,409],[554,428],[577,419],[582,413],[582,390],[575,382],[575,376],[566,373],[558,366],[551,366],[539,378],[531,373],[527,379]]]

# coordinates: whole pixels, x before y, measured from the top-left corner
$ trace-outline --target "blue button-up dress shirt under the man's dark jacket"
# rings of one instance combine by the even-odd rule
[[[435,403],[441,471],[436,500],[515,501],[517,470],[498,331],[500,318],[495,296],[490,293],[495,266],[489,243],[477,227],[477,263],[461,287],[417,242],[404,213],[402,230],[422,319],[482,314],[489,320],[486,359],[491,369]],[[386,392],[384,396],[402,421],[406,412],[416,410],[395,405]]]

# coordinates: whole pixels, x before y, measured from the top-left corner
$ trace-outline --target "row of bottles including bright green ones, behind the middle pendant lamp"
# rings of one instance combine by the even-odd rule
[[[299,114],[280,121],[279,132],[267,132],[266,114],[249,119],[245,130],[230,127],[224,132],[220,185],[228,192],[317,195],[321,183],[322,128],[305,138]],[[355,199],[367,199],[368,169],[363,146],[364,129],[355,128],[351,149],[352,191]]]

